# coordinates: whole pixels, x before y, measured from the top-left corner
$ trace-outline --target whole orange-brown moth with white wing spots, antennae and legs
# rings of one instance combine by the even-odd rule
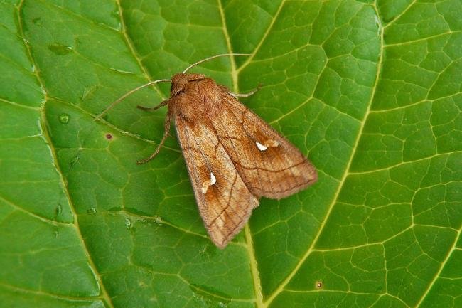
[[[127,92],[98,116],[141,87],[171,83],[168,99],[156,107],[138,106],[142,110],[168,107],[159,147],[138,164],[159,153],[173,121],[200,216],[218,248],[225,248],[244,227],[259,198],[284,198],[317,179],[316,169],[299,149],[237,100],[258,89],[239,95],[205,75],[186,73],[195,65],[229,55],[247,54],[200,60],[171,79],[155,80]]]

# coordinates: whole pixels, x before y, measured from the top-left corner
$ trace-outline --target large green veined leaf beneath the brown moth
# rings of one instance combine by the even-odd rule
[[[462,307],[462,4],[0,1],[2,307]],[[193,69],[294,142],[318,183],[219,250],[167,84]],[[172,135],[173,131],[172,131]]]

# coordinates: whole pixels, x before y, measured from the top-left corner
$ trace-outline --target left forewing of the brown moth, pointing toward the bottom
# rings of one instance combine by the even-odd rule
[[[250,193],[210,125],[175,117],[200,216],[213,243],[224,248],[249,219],[258,199]],[[211,176],[213,174],[213,176]]]

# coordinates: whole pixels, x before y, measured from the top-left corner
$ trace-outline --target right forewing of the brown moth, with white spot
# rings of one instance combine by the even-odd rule
[[[255,196],[284,198],[316,181],[313,165],[294,145],[235,97],[222,97],[215,131]]]

